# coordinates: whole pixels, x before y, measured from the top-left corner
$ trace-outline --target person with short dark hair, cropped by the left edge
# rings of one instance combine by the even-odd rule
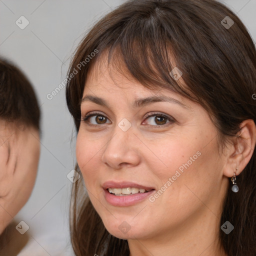
[[[34,186],[40,154],[39,120],[32,85],[16,66],[0,59],[0,248],[6,245],[3,231]],[[26,231],[21,227],[21,232]]]

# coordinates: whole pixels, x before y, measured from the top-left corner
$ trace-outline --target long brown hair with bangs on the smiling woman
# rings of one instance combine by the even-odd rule
[[[234,22],[230,27],[227,17]],[[224,19],[225,18],[225,19]],[[224,23],[223,21],[224,20]],[[168,88],[199,102],[210,114],[223,144],[236,136],[245,119],[256,120],[256,51],[241,20],[215,0],[129,0],[99,20],[79,44],[69,75],[87,55],[98,53],[66,85],[66,102],[78,131],[80,101],[88,68],[108,52],[108,63],[121,63],[149,89]],[[175,65],[170,61],[174,57]],[[114,59],[114,60],[113,60]],[[186,87],[170,76],[174,66],[182,71]],[[223,201],[219,224],[235,229],[220,241],[229,256],[256,255],[256,153],[237,176],[239,192],[230,187]],[[76,169],[80,172],[78,166]],[[231,183],[231,182],[230,182]],[[105,229],[93,208],[83,181],[72,187],[71,242],[78,256],[129,255],[126,240]]]

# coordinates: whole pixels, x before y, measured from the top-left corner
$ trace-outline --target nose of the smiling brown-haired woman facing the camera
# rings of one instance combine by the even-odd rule
[[[139,141],[133,133],[132,126],[123,131],[116,125],[113,135],[103,150],[101,161],[112,169],[137,165],[140,161]]]

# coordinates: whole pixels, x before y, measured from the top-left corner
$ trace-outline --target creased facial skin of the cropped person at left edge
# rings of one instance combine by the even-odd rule
[[[0,233],[28,200],[40,154],[39,131],[0,120]]]

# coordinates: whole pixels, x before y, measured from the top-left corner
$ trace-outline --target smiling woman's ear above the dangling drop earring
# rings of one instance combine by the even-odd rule
[[[227,177],[240,174],[249,162],[255,148],[256,126],[252,119],[244,120],[239,125],[240,131],[227,146],[226,162],[223,174]],[[237,167],[237,170],[236,170]]]

